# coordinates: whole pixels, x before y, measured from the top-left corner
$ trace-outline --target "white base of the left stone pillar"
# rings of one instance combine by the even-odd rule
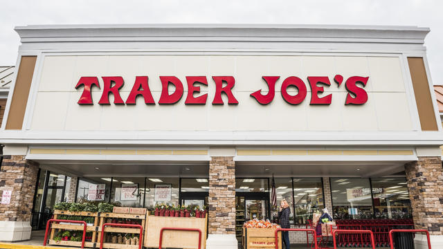
[[[0,221],[0,241],[28,240],[31,230],[29,221]]]

